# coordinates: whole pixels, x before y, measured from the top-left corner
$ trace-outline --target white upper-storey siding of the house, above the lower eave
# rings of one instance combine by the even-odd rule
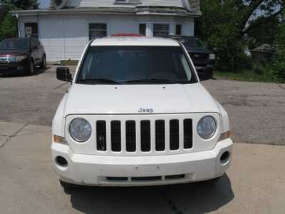
[[[142,6],[182,6],[184,0],[142,0]],[[114,4],[115,0],[68,0],[66,6],[83,6],[83,7],[94,7],[94,6],[133,6],[128,4]]]

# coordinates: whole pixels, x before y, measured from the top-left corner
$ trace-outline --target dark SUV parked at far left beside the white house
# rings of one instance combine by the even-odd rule
[[[38,39],[19,38],[1,41],[0,74],[33,75],[35,66],[46,68],[46,53]]]

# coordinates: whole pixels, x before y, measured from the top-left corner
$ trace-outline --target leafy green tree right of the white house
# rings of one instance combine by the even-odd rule
[[[200,6],[198,36],[217,49],[219,69],[237,70],[247,63],[244,36],[279,16],[284,3],[281,0],[200,0]],[[261,11],[263,19],[251,22],[257,11]]]

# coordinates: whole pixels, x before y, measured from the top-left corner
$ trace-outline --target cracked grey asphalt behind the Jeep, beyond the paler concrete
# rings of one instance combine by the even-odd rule
[[[68,87],[56,80],[55,71],[51,66],[34,76],[0,76],[0,121],[51,126]],[[285,145],[285,85],[224,80],[203,84],[228,111],[235,142]]]

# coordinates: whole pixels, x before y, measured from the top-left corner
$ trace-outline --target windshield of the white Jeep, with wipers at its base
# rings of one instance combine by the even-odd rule
[[[77,83],[195,83],[180,46],[90,46]]]

